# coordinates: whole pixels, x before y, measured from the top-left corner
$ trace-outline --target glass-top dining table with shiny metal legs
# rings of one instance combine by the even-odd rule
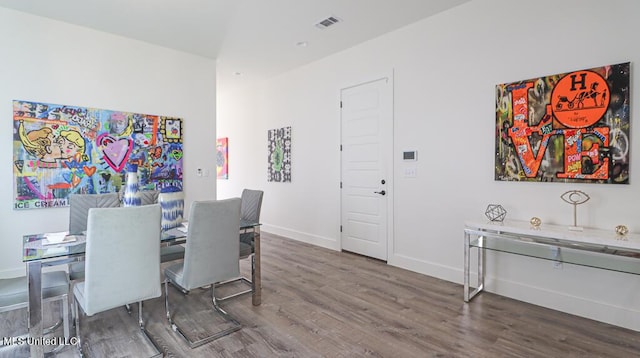
[[[185,226],[186,227],[186,226]],[[240,232],[254,233],[254,260],[255,265],[251,270],[252,304],[259,306],[262,303],[262,282],[260,272],[260,223],[247,220],[240,221]],[[51,239],[60,237],[61,240]],[[71,240],[65,240],[65,239]],[[29,284],[29,336],[31,357],[44,357],[45,340],[43,337],[42,322],[42,268],[49,266],[66,265],[73,262],[84,261],[86,238],[84,235],[67,235],[67,233],[40,233],[24,235],[22,237],[23,258],[27,265],[27,279]],[[163,231],[160,237],[160,245],[177,245],[187,240],[184,227]],[[73,292],[70,292],[73,295]],[[70,297],[71,299],[71,297]]]

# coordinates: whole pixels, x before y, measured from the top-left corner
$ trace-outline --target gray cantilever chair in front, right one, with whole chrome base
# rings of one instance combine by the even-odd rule
[[[240,275],[239,227],[240,198],[193,202],[189,212],[189,231],[184,261],[164,270],[167,319],[172,328],[189,342],[192,348],[235,332],[241,327],[238,321],[218,306],[215,297],[215,283]],[[214,310],[231,326],[206,338],[189,339],[171,315],[169,283],[185,293],[210,285]]]

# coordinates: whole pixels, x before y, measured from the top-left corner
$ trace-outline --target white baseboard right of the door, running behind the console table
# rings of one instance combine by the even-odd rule
[[[463,270],[457,267],[443,266],[397,254],[392,255],[387,262],[389,265],[406,270],[463,284]],[[472,282],[476,282],[474,280]],[[626,307],[491,276],[485,278],[485,291],[640,332],[640,312]],[[462,288],[460,290],[460,301],[463,302]],[[473,300],[469,304],[473,304]]]

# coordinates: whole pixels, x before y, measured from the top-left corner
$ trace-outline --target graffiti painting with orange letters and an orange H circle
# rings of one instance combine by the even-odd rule
[[[497,85],[495,180],[628,184],[629,69]]]

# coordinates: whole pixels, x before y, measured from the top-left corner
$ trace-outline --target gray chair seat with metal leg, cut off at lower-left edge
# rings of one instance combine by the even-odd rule
[[[64,336],[69,338],[69,277],[64,271],[42,274],[42,301],[60,301],[60,320],[46,328],[50,333],[61,324]],[[26,276],[0,279],[0,312],[8,312],[29,306],[28,282]],[[22,337],[27,337],[25,334]],[[2,345],[0,343],[0,345]]]

